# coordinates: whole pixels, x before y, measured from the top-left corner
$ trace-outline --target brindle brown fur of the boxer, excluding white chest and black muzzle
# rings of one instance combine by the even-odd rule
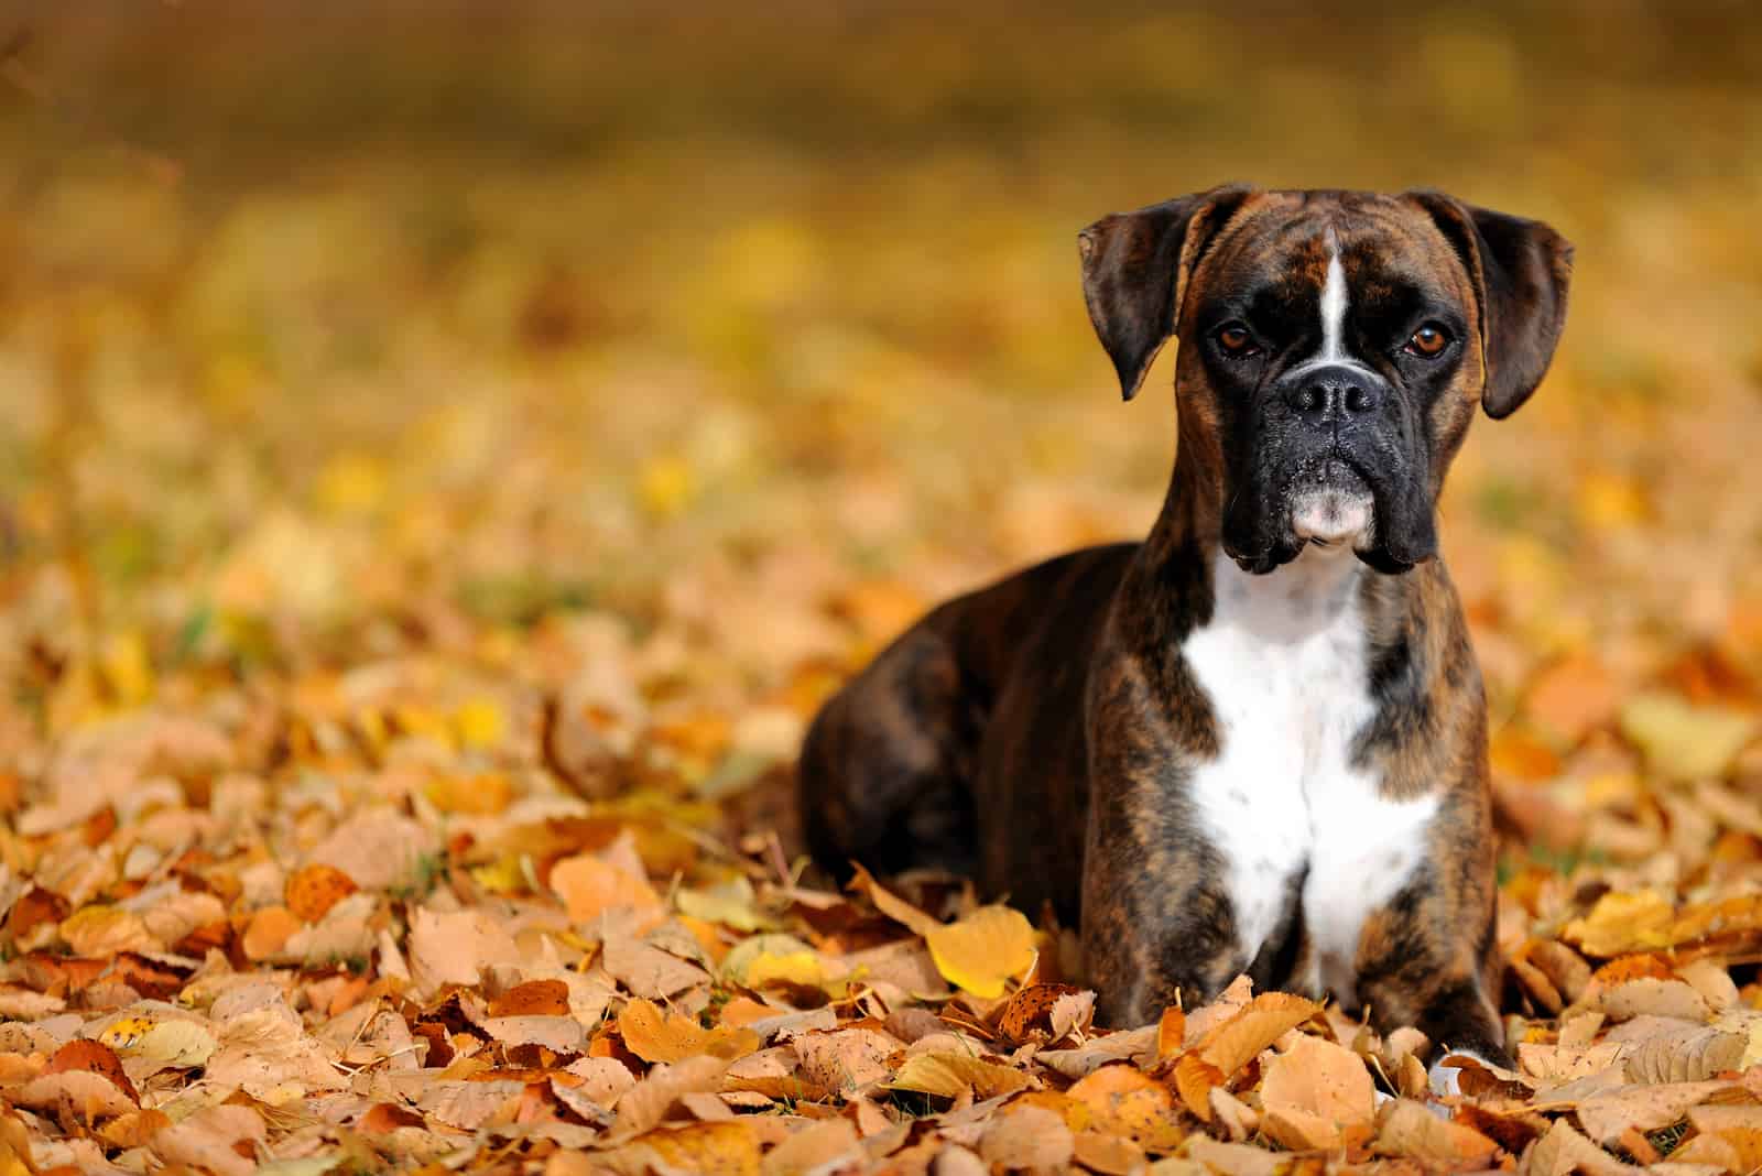
[[[1514,412],[1559,336],[1572,252],[1536,222],[1431,192],[1230,187],[1085,231],[1084,290],[1126,398],[1170,334],[1191,340],[1161,516],[1142,544],[1077,551],[951,600],[881,653],[807,736],[805,829],[839,875],[849,861],[932,864],[1029,912],[1050,903],[1080,922],[1112,1023],[1209,998],[1242,970],[1256,988],[1293,982],[1307,952],[1300,891],[1279,933],[1240,958],[1216,850],[1196,831],[1188,785],[1219,755],[1219,731],[1182,643],[1212,618],[1219,548],[1255,572],[1302,548],[1276,502],[1255,503],[1269,477],[1256,454],[1281,426],[1244,415],[1253,389],[1205,333],[1219,313],[1247,313],[1302,354],[1322,241],[1353,275],[1355,329],[1408,331],[1422,299],[1461,340],[1448,364],[1388,361],[1408,415],[1367,458],[1376,542],[1359,555],[1378,574],[1359,592],[1374,717],[1355,766],[1378,773],[1383,796],[1434,794],[1440,810],[1424,868],[1362,926],[1357,998],[1383,1028],[1417,1025],[1503,1060],[1485,702],[1433,519],[1475,405]]]

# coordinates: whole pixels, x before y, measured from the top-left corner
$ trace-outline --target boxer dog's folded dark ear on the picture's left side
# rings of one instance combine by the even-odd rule
[[[1138,394],[1151,361],[1175,333],[1188,278],[1205,243],[1251,192],[1244,185],[1196,192],[1103,217],[1077,234],[1089,320],[1119,371],[1126,400]]]

